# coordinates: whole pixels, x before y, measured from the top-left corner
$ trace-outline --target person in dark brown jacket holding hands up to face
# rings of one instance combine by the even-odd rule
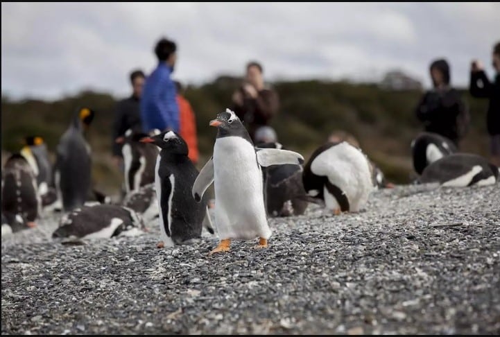
[[[253,141],[255,130],[268,125],[279,107],[278,95],[273,89],[265,87],[263,73],[259,62],[249,62],[243,85],[232,95],[232,110],[241,119]]]

